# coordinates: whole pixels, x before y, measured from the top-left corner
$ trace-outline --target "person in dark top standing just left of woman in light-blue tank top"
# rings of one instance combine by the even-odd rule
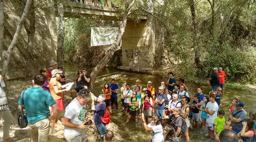
[[[198,107],[195,106],[195,104],[198,104],[199,102],[199,96],[194,96],[194,100],[191,104],[192,108],[192,114],[193,114],[193,122],[194,122],[194,127],[197,128],[199,126],[199,120],[200,120],[200,113]]]

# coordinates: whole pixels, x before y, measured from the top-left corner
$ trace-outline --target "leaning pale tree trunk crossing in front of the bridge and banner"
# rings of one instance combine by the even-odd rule
[[[133,0],[134,2],[134,0]],[[132,5],[132,4],[131,4]],[[110,46],[110,49],[106,52],[106,55],[100,60],[100,62],[97,64],[96,67],[94,67],[92,73],[91,73],[91,80],[90,80],[90,91],[93,90],[93,84],[96,81],[96,78],[98,76],[98,73],[106,66],[107,63],[109,63],[110,59],[113,57],[114,52],[118,50],[118,45],[121,42],[123,33],[126,28],[126,22],[127,22],[127,16],[128,16],[128,7],[129,3],[126,3],[126,9],[123,14],[122,23],[120,25],[118,36],[115,39],[114,43]]]

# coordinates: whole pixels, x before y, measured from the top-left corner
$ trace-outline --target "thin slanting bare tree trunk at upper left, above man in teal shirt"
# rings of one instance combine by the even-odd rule
[[[3,52],[3,70],[2,70],[2,74],[1,75],[3,76],[4,79],[5,79],[5,75],[6,75],[7,69],[8,69],[8,65],[9,65],[9,62],[10,62],[10,58],[11,58],[11,54],[12,54],[13,48],[16,45],[18,36],[20,35],[20,31],[21,31],[22,25],[24,24],[24,20],[26,19],[26,16],[28,14],[30,3],[31,3],[31,0],[27,0],[26,6],[25,6],[24,11],[23,11],[23,14],[22,14],[22,16],[21,16],[21,18],[20,18],[20,20],[18,22],[18,25],[17,25],[17,28],[16,28],[16,32],[15,32],[13,38],[12,38],[12,42],[9,45],[8,50],[6,51],[6,53]]]

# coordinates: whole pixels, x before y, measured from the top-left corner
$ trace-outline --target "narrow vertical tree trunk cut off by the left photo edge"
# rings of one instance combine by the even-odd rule
[[[3,39],[4,39],[4,9],[3,0],[0,0],[0,71],[2,70],[2,55],[3,55]]]

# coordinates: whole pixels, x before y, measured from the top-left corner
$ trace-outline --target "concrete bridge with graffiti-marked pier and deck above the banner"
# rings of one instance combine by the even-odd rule
[[[122,15],[116,8],[101,8],[85,4],[72,3],[63,5],[64,17],[80,18],[92,17],[103,20],[122,21]],[[55,8],[58,16],[58,9]],[[130,71],[147,71],[154,67],[155,57],[155,30],[147,15],[140,15],[139,22],[132,20],[133,15],[128,17],[126,29],[122,37],[122,66],[118,67]]]

